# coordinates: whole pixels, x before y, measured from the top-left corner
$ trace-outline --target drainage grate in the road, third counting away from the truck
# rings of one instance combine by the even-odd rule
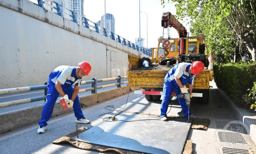
[[[240,133],[218,132],[219,140],[232,143],[247,143]]]

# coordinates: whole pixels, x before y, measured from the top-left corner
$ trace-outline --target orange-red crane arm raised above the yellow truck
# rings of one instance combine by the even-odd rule
[[[164,12],[162,14],[162,27],[167,28],[168,26],[175,28],[179,33],[179,37],[187,37],[186,28],[170,13]]]

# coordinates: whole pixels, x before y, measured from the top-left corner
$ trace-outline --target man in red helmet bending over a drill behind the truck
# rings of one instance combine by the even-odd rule
[[[165,76],[163,84],[163,99],[161,103],[161,120],[167,121],[167,109],[172,92],[176,96],[180,93],[188,93],[190,90],[190,97],[193,90],[194,79],[204,69],[204,64],[201,61],[193,61],[191,63],[182,62],[175,65]],[[189,83],[189,88],[185,84]],[[183,110],[184,117],[188,117],[188,107],[184,98],[177,98]],[[189,111],[189,116],[191,116]],[[192,116],[193,117],[193,116]]]

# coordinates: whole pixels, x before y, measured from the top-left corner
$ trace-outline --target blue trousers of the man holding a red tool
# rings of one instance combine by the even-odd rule
[[[67,89],[63,89],[64,93],[68,95],[69,99],[71,99],[74,88],[70,86]],[[47,121],[51,118],[53,114],[53,108],[57,98],[59,97],[59,93],[55,88],[55,84],[47,84],[47,96],[46,101],[44,103],[41,121],[39,121],[40,126],[47,126]],[[81,110],[81,104],[79,102],[78,96],[76,96],[73,104],[73,110],[75,117],[77,119],[81,119],[84,117],[83,112]]]

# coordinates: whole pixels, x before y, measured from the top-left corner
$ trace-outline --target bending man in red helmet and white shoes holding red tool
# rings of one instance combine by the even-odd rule
[[[69,102],[69,108],[73,107],[77,123],[89,123],[81,110],[81,104],[77,96],[83,76],[88,76],[91,65],[87,61],[80,62],[76,66],[58,66],[48,78],[47,96],[43,106],[41,121],[37,133],[42,134],[46,130],[47,121],[51,118],[55,102],[59,95]],[[74,86],[74,88],[73,88]]]

